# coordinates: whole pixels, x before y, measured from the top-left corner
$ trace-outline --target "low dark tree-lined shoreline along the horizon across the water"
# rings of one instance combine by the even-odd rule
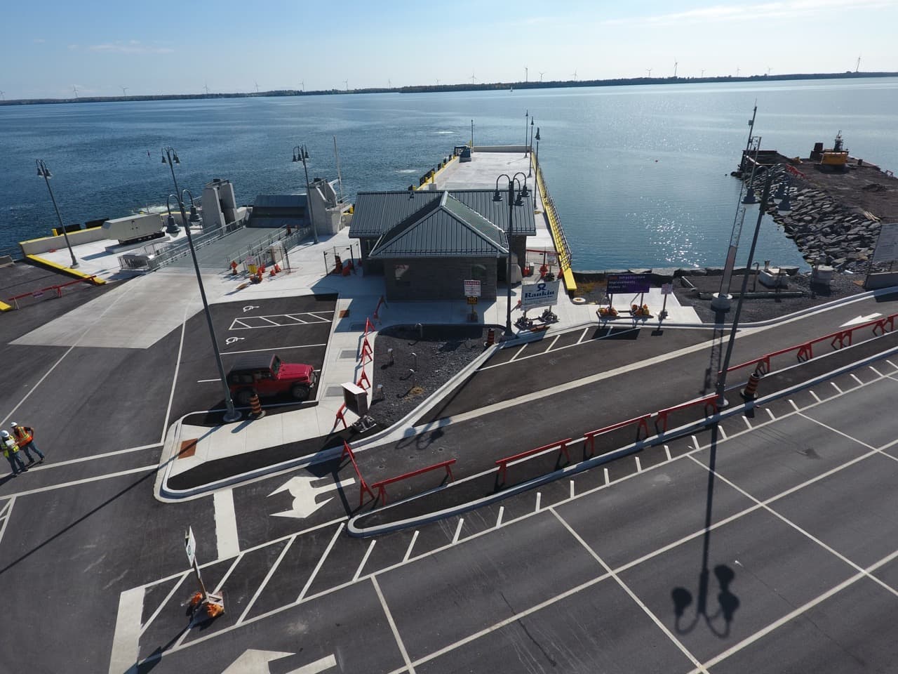
[[[196,101],[216,98],[267,98],[271,96],[324,96],[346,93],[435,93],[480,92],[513,89],[563,89],[585,86],[628,86],[641,84],[709,84],[734,82],[783,82],[789,80],[863,79],[870,77],[898,77],[898,72],[882,73],[797,73],[792,75],[747,75],[734,77],[620,77],[610,80],[556,80],[552,82],[497,82],[480,84],[416,84],[413,86],[367,87],[365,89],[322,89],[299,91],[278,89],[256,93],[164,93],[154,96],[82,96],[76,98],[23,98],[0,101],[0,105],[43,105],[50,103],[97,103],[120,101]]]

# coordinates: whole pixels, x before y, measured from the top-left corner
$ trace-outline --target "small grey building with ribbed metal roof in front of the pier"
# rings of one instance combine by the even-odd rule
[[[470,279],[480,281],[482,299],[495,299],[506,277],[509,213],[494,194],[359,192],[349,236],[359,239],[365,273],[383,273],[387,299],[463,299]],[[535,234],[530,202],[512,215],[513,260],[515,253],[523,260],[526,238]]]

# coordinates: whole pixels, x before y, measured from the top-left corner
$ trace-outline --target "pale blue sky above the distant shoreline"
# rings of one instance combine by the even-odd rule
[[[5,100],[898,71],[898,0],[6,0]],[[649,73],[650,69],[650,73]]]

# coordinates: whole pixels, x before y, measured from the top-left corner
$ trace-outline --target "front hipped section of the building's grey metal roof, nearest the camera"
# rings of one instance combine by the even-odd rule
[[[498,257],[508,253],[505,232],[448,192],[434,194],[436,200],[384,233],[369,257]]]

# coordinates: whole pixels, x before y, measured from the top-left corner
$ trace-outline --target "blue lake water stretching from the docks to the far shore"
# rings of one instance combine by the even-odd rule
[[[0,250],[57,225],[37,158],[73,223],[164,204],[172,179],[161,146],[180,155],[181,187],[199,196],[227,178],[249,204],[304,191],[302,164],[290,161],[297,144],[309,149],[310,177],[335,178],[336,136],[352,200],[417,184],[471,139],[471,120],[475,144],[523,144],[530,111],[575,269],[720,265],[739,194],[729,173],[755,101],[764,148],[806,156],[841,129],[851,155],[898,170],[895,78],[0,106]],[[804,265],[770,220],[756,258]]]

